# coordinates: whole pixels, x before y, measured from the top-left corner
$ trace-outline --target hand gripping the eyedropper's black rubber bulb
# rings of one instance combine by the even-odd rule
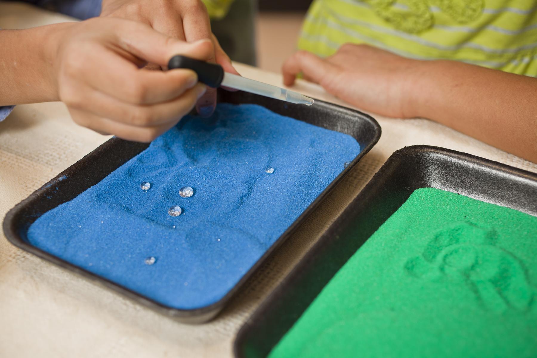
[[[205,93],[195,72],[151,71],[176,54],[208,60],[209,40],[172,39],[148,25],[95,18],[62,27],[56,41],[54,78],[72,119],[99,133],[149,142],[176,123]]]

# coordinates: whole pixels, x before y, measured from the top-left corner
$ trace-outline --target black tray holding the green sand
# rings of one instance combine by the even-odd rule
[[[400,149],[244,324],[235,340],[235,355],[269,354],[345,262],[415,189],[424,187],[537,216],[535,173],[444,148]]]

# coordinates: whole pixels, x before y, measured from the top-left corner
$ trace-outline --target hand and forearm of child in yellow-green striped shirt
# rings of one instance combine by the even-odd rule
[[[537,79],[449,60],[407,59],[347,43],[322,59],[300,51],[284,64],[348,103],[395,118],[428,118],[537,163]]]

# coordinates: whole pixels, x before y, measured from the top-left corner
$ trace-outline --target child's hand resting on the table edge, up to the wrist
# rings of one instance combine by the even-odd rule
[[[409,118],[415,116],[412,85],[417,83],[413,76],[419,76],[420,63],[372,46],[346,43],[326,59],[299,51],[282,71],[285,85],[292,85],[302,72],[308,81],[357,107]]]

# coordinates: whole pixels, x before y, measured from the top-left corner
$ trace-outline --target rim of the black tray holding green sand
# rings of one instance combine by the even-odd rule
[[[379,187],[383,184],[386,177],[389,176],[389,171],[396,169],[397,166],[400,165],[400,163],[396,162],[396,159],[398,159],[397,156],[408,156],[409,154],[437,155],[448,158],[462,159],[463,162],[478,165],[489,170],[494,170],[507,176],[514,176],[522,180],[527,180],[532,182],[532,184],[537,185],[537,173],[530,172],[524,169],[519,169],[507,164],[499,163],[494,160],[478,157],[465,152],[436,147],[433,145],[417,144],[403,147],[393,152],[393,154],[390,155],[386,162],[384,162],[380,169],[374,174],[371,180],[369,180],[366,186],[362,188],[360,193],[358,193],[358,195],[344,209],[344,212],[350,210],[351,207],[354,206],[353,204],[356,204],[357,202],[362,201],[362,199],[365,199],[366,196],[369,195],[369,192],[372,188]],[[418,186],[413,188],[413,190],[423,187],[430,186]],[[317,242],[310,247],[310,249],[303,255],[299,262],[297,262],[297,264],[291,269],[291,271],[289,271],[289,273],[280,281],[280,283],[278,283],[278,285],[263,299],[263,301],[248,317],[248,319],[245,320],[241,328],[238,330],[235,336],[235,340],[233,342],[233,354],[235,357],[245,358],[245,355],[243,355],[241,348],[244,344],[244,340],[248,338],[247,335],[250,332],[253,323],[258,322],[259,319],[271,313],[271,308],[274,305],[274,302],[278,301],[282,293],[290,284],[300,279],[300,273],[302,272],[304,266],[307,266],[308,262],[316,257],[317,253],[322,250],[323,246],[330,240],[332,236],[337,235],[337,232],[339,232],[339,225],[342,223],[342,221],[345,220],[343,213],[342,215],[338,216],[338,218],[330,225],[330,227],[324,231],[323,235],[317,240]],[[296,322],[296,320],[294,322]]]

